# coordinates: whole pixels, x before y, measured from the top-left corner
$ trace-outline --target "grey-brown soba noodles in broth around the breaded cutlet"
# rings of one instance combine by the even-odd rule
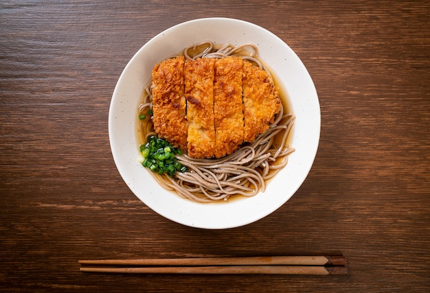
[[[195,52],[196,49],[200,49],[199,52],[189,54],[189,51]],[[240,54],[243,51],[247,51],[247,54]],[[214,43],[210,41],[192,45],[183,51],[183,56],[189,59],[240,56],[269,73],[256,58],[257,55],[258,48],[252,44],[237,47],[226,44],[214,50]],[[148,108],[152,108],[150,88],[146,88],[139,113],[144,113]],[[220,159],[192,159],[186,154],[176,155],[179,163],[188,168],[188,172],[176,172],[172,178],[166,174],[150,174],[165,189],[176,191],[179,196],[197,202],[227,200],[231,196],[255,196],[260,191],[264,192],[267,180],[273,178],[288,163],[288,154],[294,152],[286,144],[294,119],[292,113],[284,113],[282,106],[269,129],[250,145],[243,145],[236,152]],[[142,133],[145,139],[155,135],[152,123],[144,127]]]

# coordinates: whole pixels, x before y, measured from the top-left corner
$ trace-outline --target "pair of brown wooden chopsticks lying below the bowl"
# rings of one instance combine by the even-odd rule
[[[81,272],[141,274],[347,274],[346,257],[203,257],[183,259],[84,259]]]

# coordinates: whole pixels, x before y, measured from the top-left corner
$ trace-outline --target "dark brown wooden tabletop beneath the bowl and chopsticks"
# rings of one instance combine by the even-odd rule
[[[0,4],[1,292],[429,292],[428,1],[6,1]],[[166,220],[112,159],[109,104],[150,38],[225,16],[302,59],[321,140],[266,218],[207,231]],[[343,276],[98,274],[78,259],[343,253]]]

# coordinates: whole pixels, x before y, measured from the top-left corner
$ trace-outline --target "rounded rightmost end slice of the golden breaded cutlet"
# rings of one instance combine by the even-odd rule
[[[251,143],[273,123],[275,114],[281,109],[281,100],[278,89],[266,71],[246,61],[242,68],[244,140]]]

